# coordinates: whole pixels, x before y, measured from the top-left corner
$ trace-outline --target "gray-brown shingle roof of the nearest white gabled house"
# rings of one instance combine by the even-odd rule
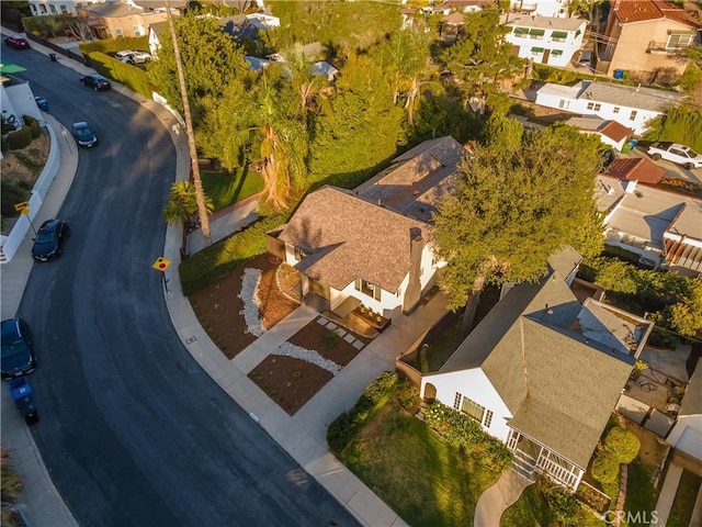
[[[585,468],[634,363],[636,346],[619,326],[641,340],[650,323],[580,305],[564,281],[577,261],[568,248],[539,283],[509,291],[439,374],[482,368],[513,415],[510,426]]]

